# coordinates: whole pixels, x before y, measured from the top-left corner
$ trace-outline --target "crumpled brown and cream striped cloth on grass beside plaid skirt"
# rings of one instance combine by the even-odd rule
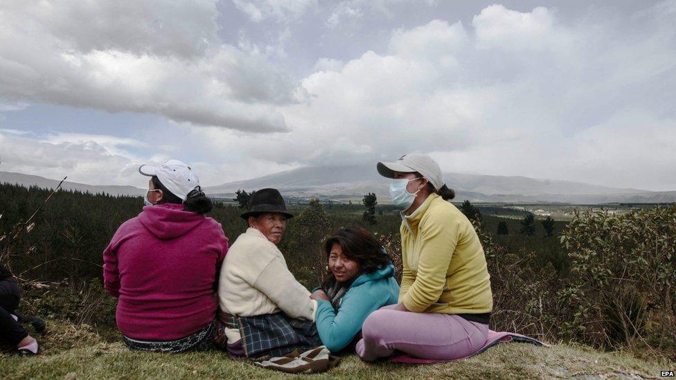
[[[294,351],[284,356],[258,361],[256,365],[285,373],[318,373],[334,368],[339,361],[338,356],[332,356],[326,347],[321,345],[300,354]]]

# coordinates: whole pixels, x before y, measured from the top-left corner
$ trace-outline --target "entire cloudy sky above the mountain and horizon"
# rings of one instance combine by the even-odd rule
[[[676,0],[0,3],[0,170],[210,186],[432,154],[676,190]]]

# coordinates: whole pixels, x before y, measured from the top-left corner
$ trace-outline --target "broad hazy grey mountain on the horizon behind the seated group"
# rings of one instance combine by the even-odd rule
[[[609,188],[573,181],[477,174],[444,173],[457,199],[491,202],[653,203],[676,201],[676,192]],[[236,190],[278,188],[292,197],[355,199],[366,192],[389,197],[388,182],[374,165],[308,167],[206,188],[209,194],[230,196]]]

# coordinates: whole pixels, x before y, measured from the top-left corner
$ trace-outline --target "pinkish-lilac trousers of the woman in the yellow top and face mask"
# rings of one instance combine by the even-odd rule
[[[486,342],[488,325],[452,314],[390,309],[374,311],[362,327],[357,355],[364,361],[391,356],[395,350],[422,359],[450,361],[473,354]]]

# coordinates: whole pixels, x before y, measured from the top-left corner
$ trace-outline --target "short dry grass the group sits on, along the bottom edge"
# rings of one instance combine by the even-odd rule
[[[116,338],[87,325],[50,321],[48,332],[39,336],[39,356],[21,357],[0,351],[2,379],[121,379],[209,378],[263,379],[288,377],[257,368],[246,361],[233,361],[223,352],[152,354],[130,352]],[[456,363],[404,365],[364,363],[355,355],[324,374],[298,378],[328,379],[542,379],[542,378],[651,378],[661,370],[675,370],[674,362],[637,359],[623,352],[598,352],[588,347],[558,344],[550,348],[526,343],[497,345],[477,356]]]

